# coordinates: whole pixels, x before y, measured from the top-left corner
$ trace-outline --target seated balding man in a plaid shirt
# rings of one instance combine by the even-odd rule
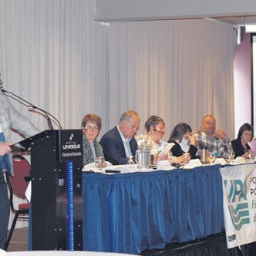
[[[204,116],[201,123],[201,130],[195,133],[197,157],[200,157],[202,147],[207,147],[207,150],[214,153],[215,157],[228,158],[228,136],[220,138],[215,134],[216,120],[214,116]],[[224,133],[225,134],[225,133]],[[222,134],[223,135],[223,134]]]

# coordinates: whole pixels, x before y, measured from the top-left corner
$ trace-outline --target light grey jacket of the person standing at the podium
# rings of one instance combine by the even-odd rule
[[[19,131],[19,133],[25,137],[40,132],[25,116],[22,116],[22,114],[12,106],[4,93],[0,93],[0,124],[6,142],[11,140],[11,128]],[[10,162],[12,163],[12,161]]]

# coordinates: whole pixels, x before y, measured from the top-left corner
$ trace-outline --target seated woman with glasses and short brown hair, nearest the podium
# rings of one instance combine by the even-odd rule
[[[101,119],[96,114],[86,114],[82,120],[83,129],[83,165],[93,163],[96,157],[103,157],[103,148],[96,141],[101,129]],[[104,163],[105,166],[105,163]]]

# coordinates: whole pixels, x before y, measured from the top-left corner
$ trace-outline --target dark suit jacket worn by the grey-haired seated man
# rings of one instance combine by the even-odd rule
[[[117,127],[109,130],[103,135],[100,140],[100,144],[103,147],[103,153],[105,160],[113,164],[126,164],[128,158],[126,157],[126,151],[123,146],[123,140],[120,136]],[[130,150],[133,156],[138,149],[134,136],[130,140]]]

